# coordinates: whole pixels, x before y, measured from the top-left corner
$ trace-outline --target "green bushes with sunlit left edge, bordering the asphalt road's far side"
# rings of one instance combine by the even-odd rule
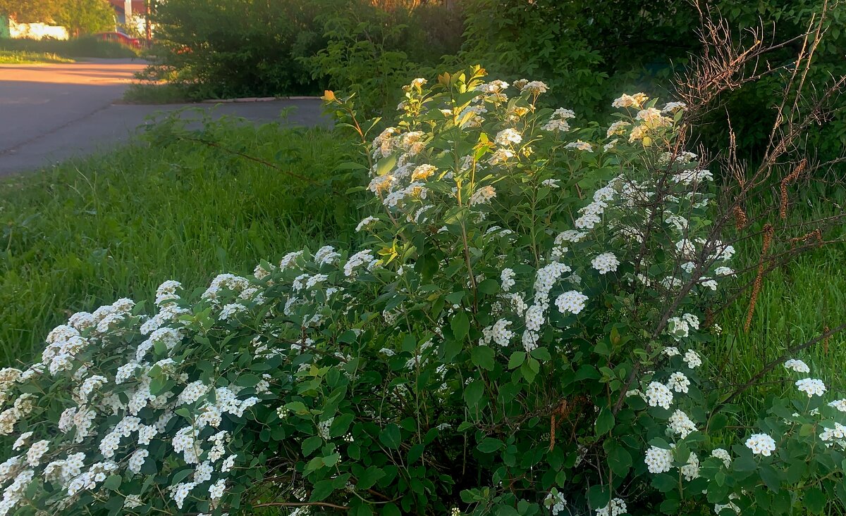
[[[381,111],[411,73],[458,51],[458,10],[366,0],[173,0],[155,11],[156,61],[140,76],[192,98],[355,92]]]

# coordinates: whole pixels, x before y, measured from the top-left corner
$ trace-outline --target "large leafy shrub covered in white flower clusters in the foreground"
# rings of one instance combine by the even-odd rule
[[[805,362],[794,398],[728,428],[701,351],[733,248],[676,144],[685,106],[623,95],[601,129],[483,75],[404,89],[362,249],[165,282],[4,369],[0,513],[842,504],[846,400]]]

